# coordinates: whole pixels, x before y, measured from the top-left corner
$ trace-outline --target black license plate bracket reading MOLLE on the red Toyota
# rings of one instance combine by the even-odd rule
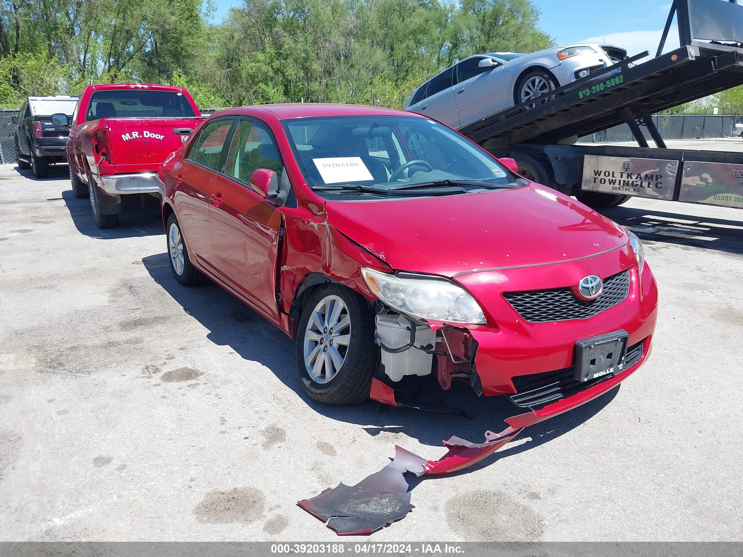
[[[629,333],[615,330],[575,343],[575,380],[586,382],[621,371]]]

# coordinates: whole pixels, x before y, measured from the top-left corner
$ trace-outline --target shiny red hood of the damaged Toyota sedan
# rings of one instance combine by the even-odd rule
[[[453,277],[584,258],[625,245],[622,227],[532,183],[494,192],[327,201],[328,224],[393,269]]]

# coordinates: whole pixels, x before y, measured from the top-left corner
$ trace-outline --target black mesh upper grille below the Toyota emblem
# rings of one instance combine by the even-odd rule
[[[624,302],[629,295],[629,269],[605,278],[603,282],[601,296],[590,302],[577,299],[568,287],[506,292],[503,297],[531,323],[588,319]]]

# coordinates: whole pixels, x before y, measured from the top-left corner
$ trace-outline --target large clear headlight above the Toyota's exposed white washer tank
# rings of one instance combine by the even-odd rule
[[[381,302],[421,319],[485,323],[485,316],[467,290],[447,280],[400,278],[364,267],[361,274]]]

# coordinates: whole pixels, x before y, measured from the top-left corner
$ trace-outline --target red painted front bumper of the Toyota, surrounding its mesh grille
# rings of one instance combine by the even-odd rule
[[[578,261],[479,271],[457,278],[495,325],[467,328],[477,342],[475,368],[485,395],[514,394],[513,377],[564,370],[574,365],[575,343],[626,330],[629,345],[652,336],[658,315],[658,287],[649,266],[639,273],[629,247]],[[504,292],[578,284],[591,274],[607,277],[629,268],[629,294],[623,302],[588,319],[531,323],[504,299]],[[646,353],[646,350],[643,351]]]

